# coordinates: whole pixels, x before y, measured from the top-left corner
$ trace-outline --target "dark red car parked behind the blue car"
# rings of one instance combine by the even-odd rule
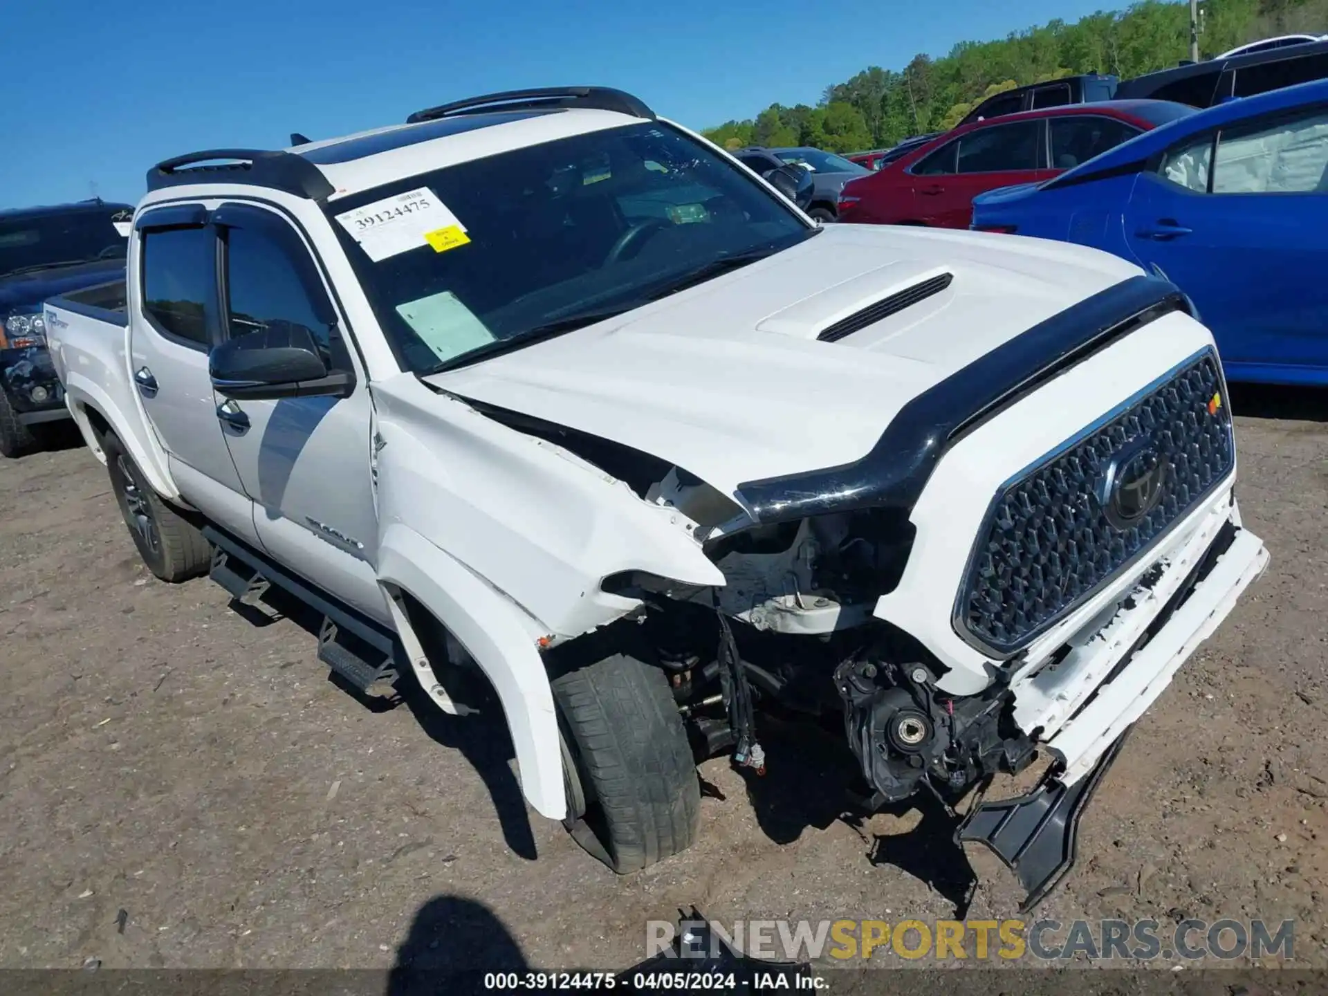
[[[1194,112],[1171,101],[1100,101],[961,125],[845,185],[839,220],[967,228],[977,194],[1050,179]]]

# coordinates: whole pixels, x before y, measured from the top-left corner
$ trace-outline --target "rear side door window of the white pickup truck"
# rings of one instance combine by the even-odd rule
[[[216,234],[210,227],[143,232],[143,313],[158,332],[208,345],[207,309],[215,296]]]

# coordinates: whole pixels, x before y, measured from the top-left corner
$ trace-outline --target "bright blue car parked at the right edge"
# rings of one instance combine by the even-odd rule
[[[981,194],[972,227],[1093,246],[1166,276],[1198,305],[1231,380],[1328,384],[1328,80]]]

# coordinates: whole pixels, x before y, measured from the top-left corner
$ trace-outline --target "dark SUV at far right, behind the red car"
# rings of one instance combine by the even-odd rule
[[[1328,78],[1328,41],[1312,41],[1137,76],[1117,86],[1116,96],[1211,108],[1232,97],[1252,97],[1324,78]]]

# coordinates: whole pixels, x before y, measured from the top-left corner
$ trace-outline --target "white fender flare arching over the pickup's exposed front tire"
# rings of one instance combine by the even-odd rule
[[[382,531],[377,559],[378,582],[414,596],[489,677],[511,732],[522,793],[540,815],[562,819],[567,799],[554,692],[530,616],[401,523]]]

